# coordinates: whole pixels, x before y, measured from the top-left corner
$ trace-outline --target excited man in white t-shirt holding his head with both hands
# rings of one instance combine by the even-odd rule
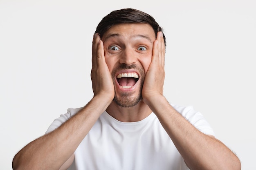
[[[13,159],[15,170],[240,170],[207,121],[163,95],[165,36],[150,15],[112,11],[92,42],[94,97]]]

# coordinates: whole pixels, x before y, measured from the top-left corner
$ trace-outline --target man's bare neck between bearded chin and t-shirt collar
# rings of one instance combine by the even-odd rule
[[[129,108],[120,107],[115,102],[112,102],[106,111],[109,115],[122,122],[141,121],[152,113],[148,105],[142,100],[136,106]]]

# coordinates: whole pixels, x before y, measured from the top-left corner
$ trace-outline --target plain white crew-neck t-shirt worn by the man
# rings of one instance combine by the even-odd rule
[[[201,113],[192,107],[173,107],[198,130],[214,135]],[[80,109],[69,108],[46,133]],[[121,122],[104,111],[74,155],[69,170],[189,170],[154,113],[141,121]]]

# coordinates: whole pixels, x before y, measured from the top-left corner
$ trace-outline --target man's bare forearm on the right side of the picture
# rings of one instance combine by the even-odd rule
[[[239,159],[222,142],[196,129],[163,96],[153,100],[148,101],[148,106],[191,170],[241,169]]]

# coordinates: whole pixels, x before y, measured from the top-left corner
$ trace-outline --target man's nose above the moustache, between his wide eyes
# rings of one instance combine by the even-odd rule
[[[121,52],[119,62],[121,64],[134,64],[137,61],[136,52],[131,48],[126,48]]]

